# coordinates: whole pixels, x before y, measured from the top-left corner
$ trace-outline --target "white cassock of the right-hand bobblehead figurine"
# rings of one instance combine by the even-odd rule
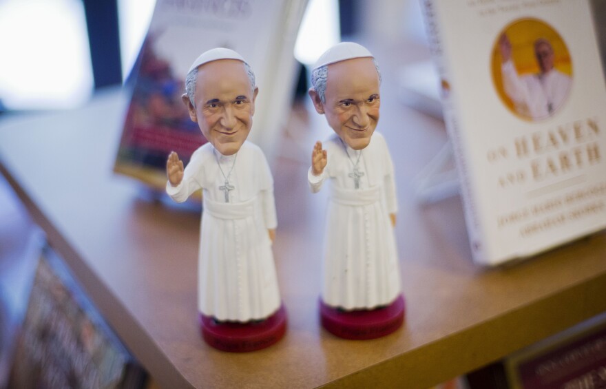
[[[314,193],[330,179],[322,299],[346,310],[388,305],[400,293],[400,280],[389,218],[397,212],[395,180],[385,139],[375,132],[362,150],[359,189],[350,176],[359,151],[346,147],[337,135],[323,148],[328,155],[324,171],[317,177],[311,169],[307,174]]]

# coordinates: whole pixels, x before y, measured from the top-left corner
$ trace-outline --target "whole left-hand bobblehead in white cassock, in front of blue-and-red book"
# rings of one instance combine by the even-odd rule
[[[271,251],[277,225],[273,178],[261,149],[247,141],[258,94],[254,74],[240,54],[216,48],[191,65],[185,90],[182,100],[189,117],[208,143],[194,151],[185,169],[175,152],[169,155],[166,191],[183,202],[202,189],[198,256],[202,335],[216,346],[207,335],[221,330],[220,324],[262,328],[260,322],[279,313],[278,324],[267,324],[278,326],[281,335],[273,339],[277,341],[285,318]],[[221,348],[231,335],[209,336],[218,337]],[[271,340],[256,344],[269,346]],[[251,341],[242,339],[242,344]],[[240,351],[239,347],[232,344],[227,350]]]

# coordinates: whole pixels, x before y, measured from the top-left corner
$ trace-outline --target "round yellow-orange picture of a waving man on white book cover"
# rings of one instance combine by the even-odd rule
[[[572,87],[572,59],[562,36],[540,19],[512,21],[492,47],[492,83],[503,105],[530,122],[552,118]]]

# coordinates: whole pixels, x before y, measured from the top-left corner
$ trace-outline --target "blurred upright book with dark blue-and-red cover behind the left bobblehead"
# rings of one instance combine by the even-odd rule
[[[249,140],[271,158],[294,95],[293,50],[305,6],[306,0],[158,0],[134,70],[114,171],[163,189],[168,154],[176,151],[187,164],[206,142],[181,95],[191,63],[216,47],[236,50],[255,72],[259,94]]]

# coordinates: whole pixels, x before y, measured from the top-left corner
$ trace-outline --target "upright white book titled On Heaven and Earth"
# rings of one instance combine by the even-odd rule
[[[606,227],[606,87],[587,0],[422,0],[474,260]]]

